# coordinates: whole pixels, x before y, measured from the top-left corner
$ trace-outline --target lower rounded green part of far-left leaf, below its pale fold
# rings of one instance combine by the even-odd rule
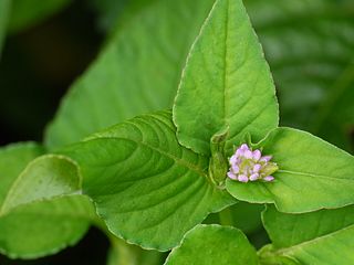
[[[15,208],[0,218],[0,252],[12,258],[54,254],[81,240],[90,226],[88,213],[94,213],[93,205],[82,195]]]

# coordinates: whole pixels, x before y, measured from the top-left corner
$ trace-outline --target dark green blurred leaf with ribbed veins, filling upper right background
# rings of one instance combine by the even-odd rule
[[[281,125],[324,137],[346,150],[352,91],[354,3],[341,0],[246,0],[247,10],[271,66],[280,100]],[[344,98],[344,97],[343,97]],[[333,104],[334,103],[334,104]],[[323,115],[323,114],[327,115]],[[345,115],[348,117],[350,115]],[[323,128],[319,130],[317,119]],[[351,115],[350,120],[353,120]]]

